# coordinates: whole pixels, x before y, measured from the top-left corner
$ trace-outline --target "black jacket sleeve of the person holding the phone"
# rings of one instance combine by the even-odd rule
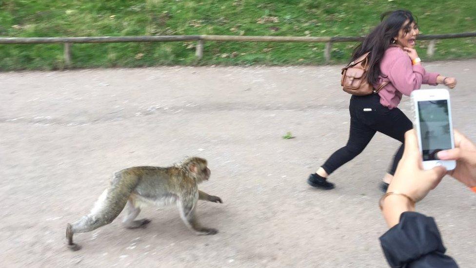
[[[417,212],[403,212],[400,223],[380,237],[380,245],[391,267],[458,267],[444,254],[435,220]]]

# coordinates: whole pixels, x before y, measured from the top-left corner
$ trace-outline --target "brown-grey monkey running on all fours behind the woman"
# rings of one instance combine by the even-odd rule
[[[99,197],[91,212],[73,224],[67,224],[66,239],[72,250],[80,249],[73,243],[75,233],[90,232],[110,224],[127,207],[122,223],[126,228],[147,225],[150,220],[135,220],[144,205],[176,203],[180,217],[187,227],[199,235],[216,234],[214,228],[201,227],[194,210],[198,200],[222,203],[218,196],[198,190],[198,184],[208,181],[210,169],[203,158],[190,157],[169,166],[135,166],[114,174],[111,185]]]

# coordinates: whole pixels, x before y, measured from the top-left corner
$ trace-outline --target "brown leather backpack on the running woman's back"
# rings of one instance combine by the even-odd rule
[[[375,89],[367,81],[369,54],[370,52],[365,53],[342,68],[342,79],[340,80],[342,90],[352,95],[365,96],[372,93],[377,94],[380,89],[388,84],[388,82],[383,82]]]

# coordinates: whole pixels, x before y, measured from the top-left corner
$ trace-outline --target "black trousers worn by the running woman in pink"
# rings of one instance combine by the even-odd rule
[[[352,96],[349,111],[349,141],[344,147],[334,152],[322,165],[322,168],[331,174],[341,165],[351,161],[363,151],[378,131],[402,143],[389,170],[389,173],[394,175],[403,155],[404,134],[413,128],[410,119],[400,109],[389,109],[380,104],[380,97],[377,94]]]

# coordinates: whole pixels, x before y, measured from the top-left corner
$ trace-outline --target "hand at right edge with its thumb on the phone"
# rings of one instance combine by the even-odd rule
[[[456,168],[448,172],[468,187],[476,187],[476,145],[456,129],[455,148],[438,152],[440,160],[456,160]]]

